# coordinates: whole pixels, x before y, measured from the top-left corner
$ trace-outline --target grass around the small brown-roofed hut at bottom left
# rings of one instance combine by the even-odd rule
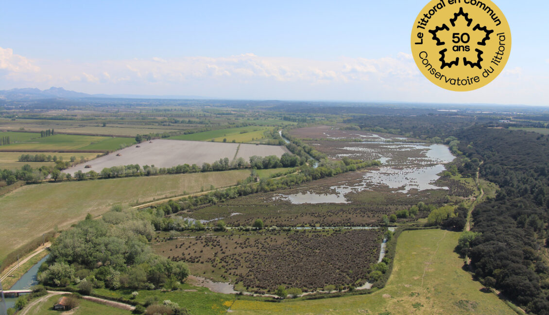
[[[59,312],[53,310],[53,305],[59,301],[63,295],[54,295],[49,297],[49,299],[44,300],[41,303],[36,304],[33,307],[30,307],[27,311],[27,314],[33,315],[42,315],[42,314],[61,314],[65,312]],[[87,300],[80,299],[80,305],[74,308],[71,311],[66,312],[71,315],[78,314],[104,314],[104,315],[117,315],[117,314],[131,314],[130,311],[120,310],[120,308],[115,308]]]

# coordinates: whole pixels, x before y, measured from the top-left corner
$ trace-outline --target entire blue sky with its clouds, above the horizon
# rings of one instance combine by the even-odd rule
[[[410,59],[427,1],[8,1],[0,89],[549,105],[548,2],[495,3],[511,58],[494,82],[457,93]]]

